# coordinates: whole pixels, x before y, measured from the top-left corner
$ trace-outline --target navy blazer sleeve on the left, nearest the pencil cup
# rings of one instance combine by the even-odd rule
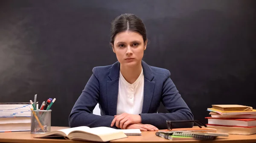
[[[88,126],[98,127],[107,126],[111,127],[111,122],[114,119],[109,115],[94,115],[93,109],[99,101],[99,80],[97,79],[97,69],[93,68],[93,75],[84,87],[81,95],[77,99],[70,115],[69,126]],[[112,128],[117,129],[116,126]]]

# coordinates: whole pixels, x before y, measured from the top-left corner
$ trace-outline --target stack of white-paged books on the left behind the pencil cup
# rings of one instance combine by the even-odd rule
[[[30,131],[30,103],[0,103],[0,132]]]

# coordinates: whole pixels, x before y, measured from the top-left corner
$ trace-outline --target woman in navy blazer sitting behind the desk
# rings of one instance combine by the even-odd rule
[[[113,20],[111,45],[118,62],[93,68],[93,75],[70,113],[70,127],[157,131],[167,128],[166,120],[193,120],[169,78],[169,70],[142,61],[147,41],[145,25],[139,17],[122,14]],[[160,102],[169,113],[157,113]],[[92,113],[97,103],[102,116]]]

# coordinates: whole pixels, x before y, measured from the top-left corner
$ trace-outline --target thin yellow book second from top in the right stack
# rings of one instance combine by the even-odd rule
[[[250,115],[250,114],[256,114],[256,109],[252,109],[251,111],[243,111],[243,110],[221,111],[221,110],[218,110],[218,109],[207,108],[207,111],[215,112],[215,113],[220,114],[220,115]]]

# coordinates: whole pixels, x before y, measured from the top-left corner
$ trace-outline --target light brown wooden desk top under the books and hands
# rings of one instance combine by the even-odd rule
[[[65,129],[67,127],[52,127],[53,130]],[[35,134],[30,132],[1,132],[0,142],[4,143],[92,143],[90,141],[76,140],[57,140],[57,139],[41,139],[34,138]],[[255,135],[229,135],[229,137],[217,137],[216,140],[191,140],[191,141],[171,141],[163,137],[158,137],[155,132],[142,132],[142,136],[128,136],[127,138],[112,140],[113,143],[157,143],[157,142],[173,142],[173,143],[256,143]]]

